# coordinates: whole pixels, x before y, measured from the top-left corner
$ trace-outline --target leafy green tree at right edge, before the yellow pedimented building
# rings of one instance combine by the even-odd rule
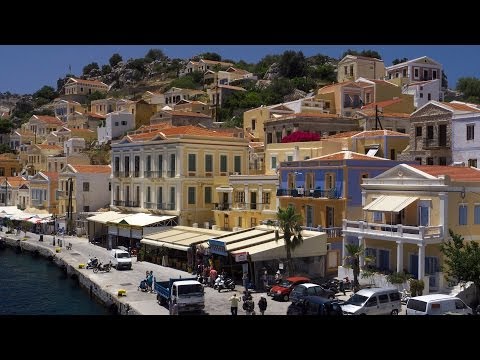
[[[440,244],[444,255],[443,272],[447,281],[472,281],[480,286],[480,245],[476,241],[464,241],[460,234],[448,230],[451,240]]]

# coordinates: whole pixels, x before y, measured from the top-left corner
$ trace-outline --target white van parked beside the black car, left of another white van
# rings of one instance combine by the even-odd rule
[[[397,288],[362,289],[341,306],[345,315],[398,315],[400,297]]]

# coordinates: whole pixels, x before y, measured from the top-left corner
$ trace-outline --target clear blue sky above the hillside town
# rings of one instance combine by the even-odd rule
[[[123,59],[143,57],[151,48],[162,49],[171,58],[190,58],[216,52],[223,58],[257,62],[267,54],[285,50],[340,57],[347,49],[378,51],[386,66],[395,58],[429,56],[443,64],[449,87],[463,76],[480,78],[479,45],[0,45],[0,91],[26,94],[43,85],[56,88],[57,79],[71,71],[81,75],[83,66],[95,61],[108,64],[114,53]]]

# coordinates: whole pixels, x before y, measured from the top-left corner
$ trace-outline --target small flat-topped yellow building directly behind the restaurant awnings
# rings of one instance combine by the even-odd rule
[[[214,221],[219,229],[248,229],[276,218],[277,176],[218,176],[214,186]]]

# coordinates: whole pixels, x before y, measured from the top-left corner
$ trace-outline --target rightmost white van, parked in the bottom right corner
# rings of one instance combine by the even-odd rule
[[[465,303],[451,295],[432,294],[415,296],[407,302],[407,315],[472,315]]]

